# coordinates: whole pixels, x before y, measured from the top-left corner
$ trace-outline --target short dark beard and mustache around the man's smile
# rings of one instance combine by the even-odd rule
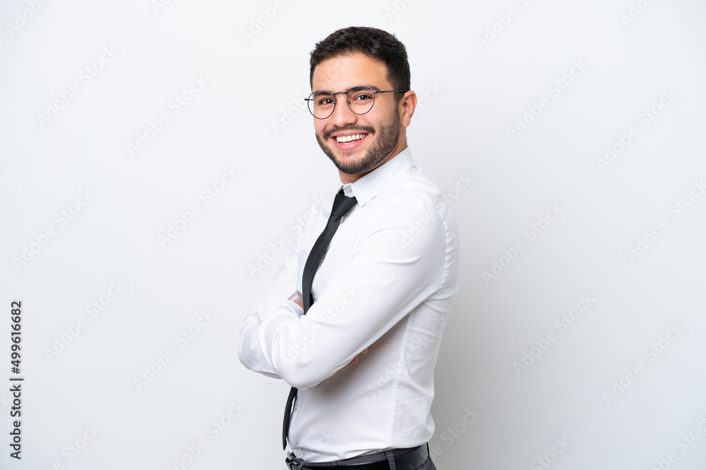
[[[323,150],[333,164],[338,168],[338,171],[346,173],[347,175],[358,175],[359,173],[365,173],[366,171],[374,168],[378,163],[385,160],[394,150],[397,148],[397,142],[400,140],[400,128],[402,127],[402,120],[400,120],[400,115],[395,113],[395,118],[393,122],[381,126],[379,131],[376,131],[371,126],[366,125],[350,125],[345,128],[331,129],[323,133],[323,138],[316,134],[316,142],[318,142],[319,147]],[[359,130],[361,132],[368,132],[369,139],[371,136],[376,137],[376,142],[372,147],[366,152],[366,154],[360,156],[357,159],[346,159],[339,161],[336,159],[334,154],[334,149],[328,146],[326,142],[330,139],[331,135],[335,132],[342,132],[347,130]],[[347,152],[344,152],[347,153]]]

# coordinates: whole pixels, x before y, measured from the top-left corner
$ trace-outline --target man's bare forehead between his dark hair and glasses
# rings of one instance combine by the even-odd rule
[[[385,63],[364,54],[327,58],[316,66],[311,78],[314,92],[340,92],[357,85],[389,89]]]

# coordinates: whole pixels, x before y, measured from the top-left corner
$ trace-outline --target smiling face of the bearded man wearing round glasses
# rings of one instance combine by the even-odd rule
[[[393,89],[382,62],[363,54],[328,58],[316,66],[311,87],[313,92],[344,92],[366,85],[376,90]],[[336,95],[333,114],[314,118],[316,140],[336,168],[348,175],[367,173],[401,151],[404,141],[400,112],[395,93],[375,95],[373,109],[356,114],[346,103],[345,94]],[[354,136],[352,140],[349,136]]]

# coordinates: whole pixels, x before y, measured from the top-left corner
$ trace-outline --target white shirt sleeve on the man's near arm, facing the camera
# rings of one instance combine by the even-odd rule
[[[444,224],[429,199],[390,204],[306,315],[292,302],[260,304],[258,336],[271,371],[299,389],[318,385],[437,292]]]

